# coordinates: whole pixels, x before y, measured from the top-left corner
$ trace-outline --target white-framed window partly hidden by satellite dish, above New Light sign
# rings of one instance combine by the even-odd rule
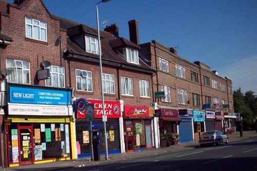
[[[57,72],[53,71],[53,68],[57,68]],[[60,67],[60,66],[54,66],[54,65],[50,65],[49,67],[47,67],[47,69],[49,69],[50,71],[50,78],[46,80],[46,86],[49,87],[65,87],[65,71],[64,71],[64,67]],[[61,70],[62,69],[62,70]],[[63,73],[62,73],[63,71]],[[57,86],[53,86],[53,79],[52,79],[52,75],[53,74],[57,74]],[[63,85],[61,85],[60,79],[63,78]]]

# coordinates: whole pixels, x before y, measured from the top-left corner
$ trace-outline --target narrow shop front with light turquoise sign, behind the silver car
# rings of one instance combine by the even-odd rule
[[[193,110],[194,140],[199,140],[201,132],[205,131],[205,111]]]

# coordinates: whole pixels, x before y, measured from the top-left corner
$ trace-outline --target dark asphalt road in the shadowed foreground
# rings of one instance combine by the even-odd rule
[[[178,153],[165,153],[129,162],[106,165],[61,169],[62,171],[142,171],[142,170],[257,170],[257,138],[222,144],[221,146],[199,147]]]

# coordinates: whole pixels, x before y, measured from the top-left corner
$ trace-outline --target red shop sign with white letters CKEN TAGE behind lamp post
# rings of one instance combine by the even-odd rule
[[[87,100],[95,104],[95,118],[103,118],[103,103],[101,100]],[[104,111],[107,118],[120,118],[120,102],[104,101]]]

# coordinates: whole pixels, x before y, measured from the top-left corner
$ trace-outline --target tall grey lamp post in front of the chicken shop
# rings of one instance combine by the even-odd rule
[[[99,62],[100,62],[100,78],[101,78],[101,90],[102,90],[102,104],[103,104],[103,118],[105,119],[105,111],[104,111],[104,95],[103,95],[103,77],[102,77],[102,56],[101,56],[101,42],[100,42],[100,30],[99,30],[99,17],[98,17],[98,4],[106,3],[111,0],[102,0],[96,5],[96,13],[97,13],[97,32],[98,32],[98,48],[99,48]],[[105,160],[108,160],[108,146],[107,146],[107,137],[106,137],[106,123],[104,124],[104,141],[105,141]]]

